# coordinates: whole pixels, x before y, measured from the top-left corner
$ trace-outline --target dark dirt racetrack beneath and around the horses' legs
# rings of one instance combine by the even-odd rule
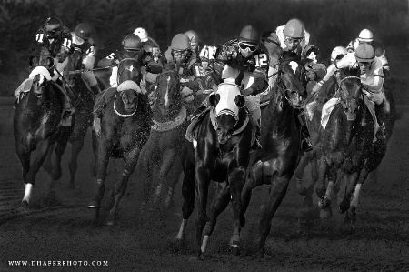
[[[13,99],[0,99],[0,271],[409,271],[408,106],[398,106],[400,118],[394,135],[376,175],[363,186],[353,229],[343,227],[344,216],[334,205],[334,217],[322,221],[315,195],[314,208],[303,207],[293,179],[273,219],[263,259],[254,259],[254,253],[266,186],[254,191],[242,231],[244,247],[238,255],[228,246],[233,231],[228,207],[219,217],[205,260],[189,262],[195,213],[189,221],[187,248],[179,250],[175,245],[181,221],[180,183],[170,210],[141,217],[142,181],[136,169],[123,198],[119,224],[95,224],[94,213],[86,208],[95,188],[89,168],[93,158],[89,132],[79,158],[75,190],[67,188],[68,145],[63,178],[56,186],[58,202],[50,203],[44,196],[48,177],[42,169],[32,209],[18,213],[15,207],[24,195],[24,185],[15,154],[12,103]],[[111,160],[109,186],[121,165],[119,160]],[[310,180],[309,172],[305,176],[306,182]],[[28,263],[23,267],[23,263],[17,266],[11,261]],[[63,267],[48,261],[72,263]],[[79,261],[88,266],[80,267]],[[93,261],[107,262],[107,266]]]

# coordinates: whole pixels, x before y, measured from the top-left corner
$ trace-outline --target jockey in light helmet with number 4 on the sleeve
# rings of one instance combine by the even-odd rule
[[[325,74],[324,65],[317,65],[320,60],[319,49],[312,38],[312,36],[305,31],[304,23],[299,19],[291,19],[285,25],[278,26],[275,31],[264,32],[263,34],[264,45],[269,49],[269,54],[272,56],[275,50],[275,45],[278,45],[281,50],[292,51],[299,55],[300,59],[304,63],[305,76],[308,81],[310,80],[320,80]],[[281,55],[281,54],[278,54]],[[274,74],[276,72],[276,65],[278,65],[279,59],[276,57],[271,57],[270,66]],[[270,80],[270,84],[274,84],[274,78]],[[309,137],[310,133],[308,131],[308,126],[306,126],[304,109],[294,109],[299,117],[301,124],[301,135],[302,139],[302,149],[304,152],[311,151],[313,145],[311,144]]]

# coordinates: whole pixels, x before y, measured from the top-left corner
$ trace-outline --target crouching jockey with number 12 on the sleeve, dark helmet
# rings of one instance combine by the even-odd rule
[[[240,32],[238,39],[232,39],[217,47],[214,60],[205,70],[205,86],[217,89],[225,78],[235,78],[238,86],[242,85],[244,76],[254,77],[253,83],[244,86],[242,94],[246,96],[246,106],[250,112],[255,132],[252,149],[261,148],[260,145],[260,96],[268,86],[268,52],[260,40],[260,33],[252,25],[246,25]],[[205,99],[195,115],[200,114],[209,105]]]

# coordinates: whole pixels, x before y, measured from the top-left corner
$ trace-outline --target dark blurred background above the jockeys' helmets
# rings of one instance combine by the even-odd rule
[[[27,76],[27,50],[38,27],[51,15],[73,31],[79,23],[88,23],[96,45],[111,42],[98,57],[115,50],[136,27],[144,27],[164,51],[175,34],[189,29],[205,44],[218,45],[238,35],[244,25],[263,32],[297,17],[324,56],[369,28],[386,47],[393,75],[390,84],[405,89],[408,13],[404,0],[0,0],[0,81],[4,83],[0,95],[10,96]],[[409,101],[404,93],[396,96],[398,103]]]

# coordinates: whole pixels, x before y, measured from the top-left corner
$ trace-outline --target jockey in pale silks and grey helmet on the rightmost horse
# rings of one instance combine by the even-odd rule
[[[364,95],[374,102],[375,116],[378,121],[379,129],[376,132],[378,139],[384,139],[384,69],[382,61],[375,55],[372,45],[359,45],[355,52],[348,53],[344,57],[335,61],[328,67],[324,79],[313,88],[313,94],[321,89],[324,82],[334,75],[336,69],[359,66],[361,70],[361,84],[364,87]],[[323,109],[324,111],[324,109]]]

